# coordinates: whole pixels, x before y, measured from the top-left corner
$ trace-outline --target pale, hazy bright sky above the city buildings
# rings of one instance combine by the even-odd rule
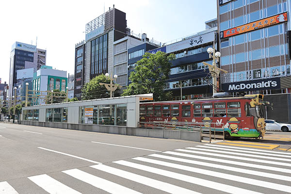
[[[169,42],[205,30],[216,18],[216,0],[9,0],[0,2],[0,78],[9,80],[13,43],[47,50],[47,65],[74,73],[75,44],[85,39],[85,24],[115,5],[126,13],[134,34]]]

